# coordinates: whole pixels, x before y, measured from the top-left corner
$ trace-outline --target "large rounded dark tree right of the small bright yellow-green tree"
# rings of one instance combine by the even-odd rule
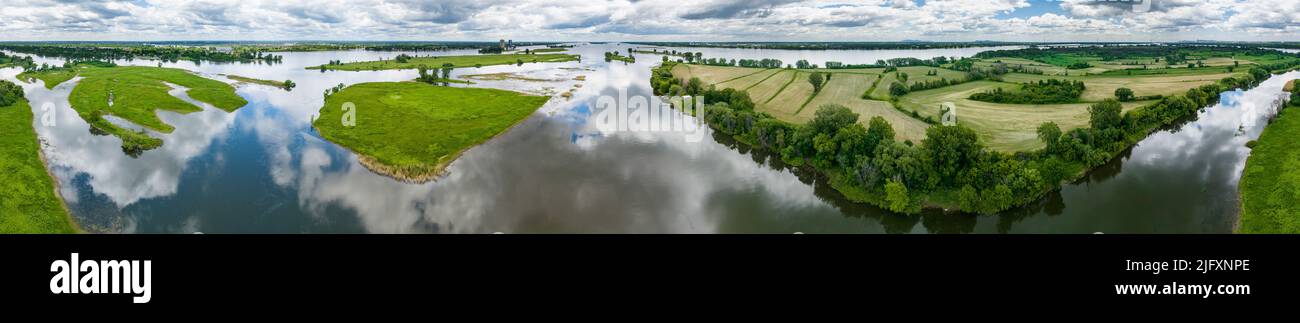
[[[984,150],[975,130],[962,125],[926,129],[926,141],[920,147],[930,154],[935,172],[945,185],[956,185],[957,177],[975,164]]]

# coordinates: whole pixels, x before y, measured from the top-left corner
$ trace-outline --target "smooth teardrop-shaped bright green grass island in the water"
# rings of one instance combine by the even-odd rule
[[[359,83],[325,99],[313,122],[321,137],[360,155],[374,172],[428,181],[469,147],[519,124],[549,96],[432,86],[419,82]],[[355,126],[343,124],[344,103]]]

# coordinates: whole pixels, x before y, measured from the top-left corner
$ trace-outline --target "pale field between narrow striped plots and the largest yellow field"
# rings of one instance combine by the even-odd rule
[[[889,105],[888,102],[864,100],[861,98],[862,91],[871,86],[876,76],[836,74],[831,78],[832,81],[822,89],[822,92],[807,107],[803,107],[803,111],[794,116],[796,121],[806,122],[812,120],[818,107],[835,103],[857,112],[859,115],[858,122],[863,126],[870,124],[871,117],[884,117],[885,121],[893,125],[898,141],[909,139],[919,143],[926,138],[926,128],[930,128],[928,124],[904,115],[898,109],[894,109],[893,105]]]

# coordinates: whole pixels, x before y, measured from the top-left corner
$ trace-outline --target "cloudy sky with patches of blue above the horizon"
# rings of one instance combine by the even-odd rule
[[[0,0],[0,40],[1300,42],[1300,0],[1140,1]]]

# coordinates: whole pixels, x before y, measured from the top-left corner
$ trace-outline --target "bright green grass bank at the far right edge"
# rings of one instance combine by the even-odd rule
[[[1300,233],[1300,109],[1269,124],[1242,173],[1240,233]]]

